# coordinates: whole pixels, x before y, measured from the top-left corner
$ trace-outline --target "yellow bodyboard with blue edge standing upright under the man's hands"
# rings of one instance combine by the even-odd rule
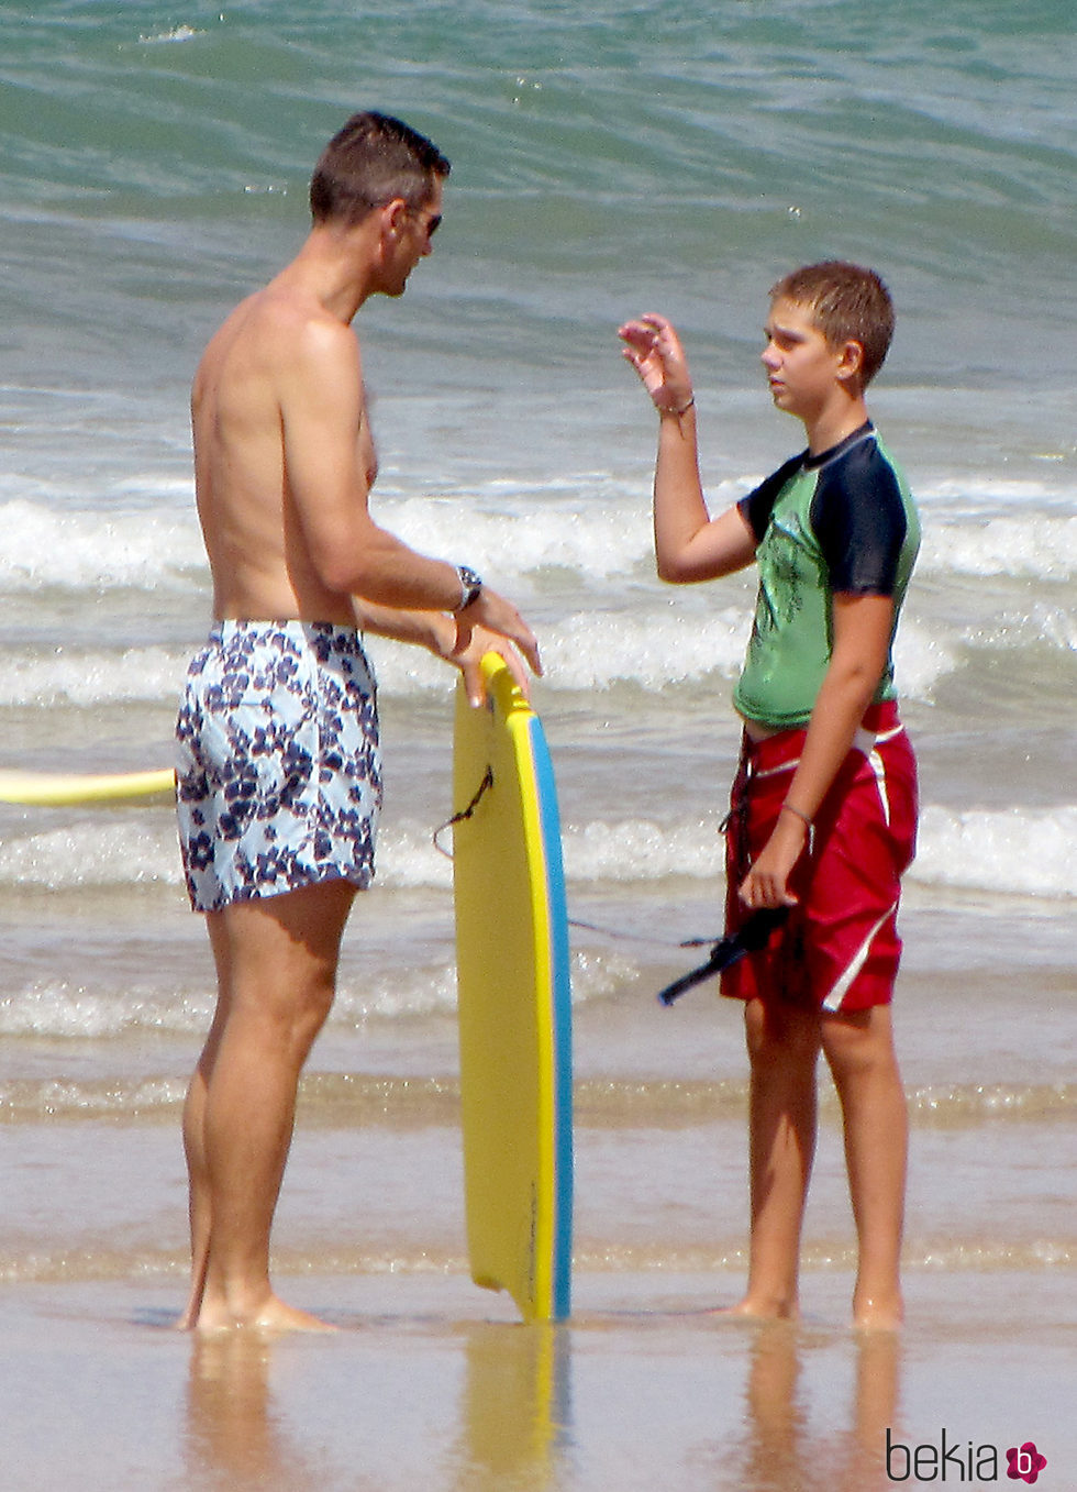
[[[525,1320],[570,1310],[571,1009],[553,771],[497,653],[488,704],[458,686],[453,892],[471,1277]]]

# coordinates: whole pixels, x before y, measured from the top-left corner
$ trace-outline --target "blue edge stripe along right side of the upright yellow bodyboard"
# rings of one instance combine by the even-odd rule
[[[553,1235],[553,1317],[565,1320],[571,1310],[573,1261],[573,1052],[571,980],[568,961],[568,904],[561,853],[558,794],[541,721],[528,721],[531,761],[538,789],[546,904],[549,907],[552,1026],[553,1026],[553,1173],[556,1225]]]

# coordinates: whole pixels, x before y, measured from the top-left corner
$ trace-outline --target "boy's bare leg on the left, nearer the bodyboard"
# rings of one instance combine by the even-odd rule
[[[800,1238],[816,1141],[814,1010],[750,1000],[744,1029],[752,1067],[749,1161],[752,1240],[740,1316],[795,1317]]]

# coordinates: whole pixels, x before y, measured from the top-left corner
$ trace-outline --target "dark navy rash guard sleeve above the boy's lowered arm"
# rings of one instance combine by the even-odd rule
[[[811,528],[831,591],[894,595],[908,519],[901,488],[874,440],[823,467],[811,498]]]

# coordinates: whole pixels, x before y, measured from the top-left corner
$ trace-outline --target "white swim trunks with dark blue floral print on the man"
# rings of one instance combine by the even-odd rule
[[[186,674],[176,785],[195,912],[322,880],[368,886],[382,762],[359,634],[215,622]]]

